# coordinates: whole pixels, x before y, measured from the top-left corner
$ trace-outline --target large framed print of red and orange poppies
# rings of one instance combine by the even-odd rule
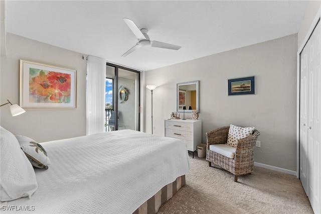
[[[20,106],[76,109],[77,70],[20,59]]]

